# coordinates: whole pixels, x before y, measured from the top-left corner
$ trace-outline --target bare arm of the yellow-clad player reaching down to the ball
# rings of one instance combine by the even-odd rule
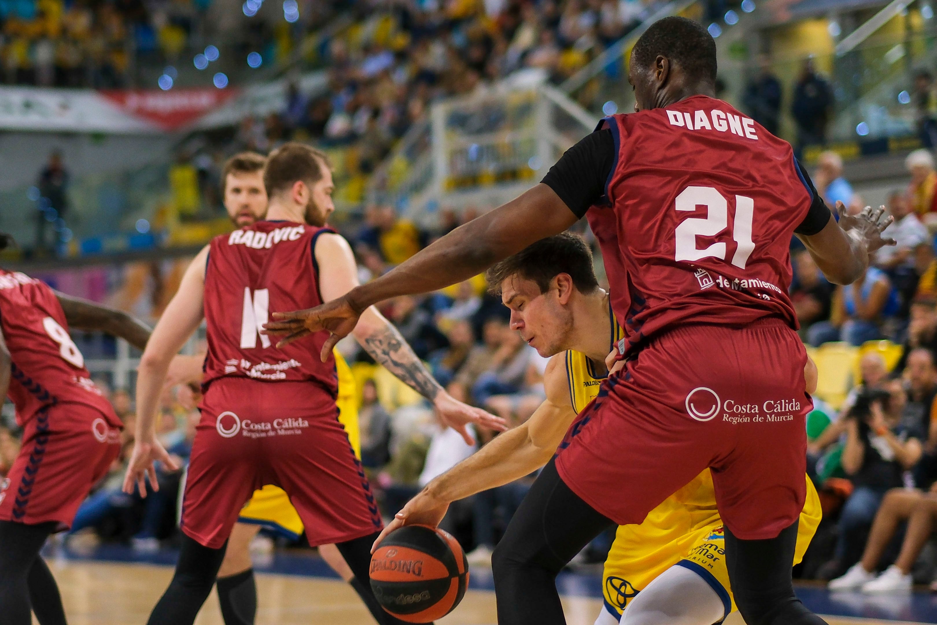
[[[380,533],[383,537],[404,525],[439,525],[449,504],[475,493],[508,484],[545,465],[556,453],[576,416],[566,386],[563,354],[550,359],[543,374],[546,400],[527,423],[515,427],[468,456],[429,484]]]

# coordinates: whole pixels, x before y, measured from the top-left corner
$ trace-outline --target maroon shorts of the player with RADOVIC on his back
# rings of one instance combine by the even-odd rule
[[[182,530],[219,548],[253,492],[287,492],[312,546],[383,528],[371,486],[338,423],[335,399],[309,382],[218,379],[201,402]]]

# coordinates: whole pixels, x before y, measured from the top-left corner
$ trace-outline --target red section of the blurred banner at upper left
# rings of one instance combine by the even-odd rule
[[[122,111],[164,130],[186,126],[238,95],[237,89],[172,89],[171,91],[106,90],[98,92]]]

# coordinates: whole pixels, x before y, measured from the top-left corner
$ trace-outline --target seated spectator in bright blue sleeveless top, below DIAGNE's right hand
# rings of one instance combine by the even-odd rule
[[[819,321],[811,328],[816,344],[846,341],[859,346],[882,336],[880,323],[900,306],[897,292],[885,272],[869,267],[853,284],[836,291],[833,320]]]

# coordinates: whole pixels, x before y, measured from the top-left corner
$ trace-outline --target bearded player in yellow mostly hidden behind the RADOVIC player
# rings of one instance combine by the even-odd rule
[[[243,152],[231,156],[221,171],[221,192],[225,209],[237,228],[253,226],[267,214],[267,191],[263,186],[263,166],[266,162],[266,156]],[[204,362],[205,354],[176,356],[172,359],[166,384],[201,384]],[[355,381],[349,365],[337,350],[335,375],[338,383],[338,395],[335,399],[338,421],[349,435],[355,456],[360,458],[361,439],[358,432]],[[225,625],[253,625],[257,615],[257,584],[250,558],[250,543],[260,528],[275,531],[292,541],[299,540],[303,533],[303,519],[292,507],[286,492],[278,486],[268,485],[256,491],[241,510],[238,522],[231,530],[225,558],[221,562],[216,579],[218,603]],[[358,578],[351,573],[335,544],[321,544],[319,552],[335,573],[354,588],[371,614],[380,621],[383,618],[383,610],[374,601],[370,588],[362,586]]]

